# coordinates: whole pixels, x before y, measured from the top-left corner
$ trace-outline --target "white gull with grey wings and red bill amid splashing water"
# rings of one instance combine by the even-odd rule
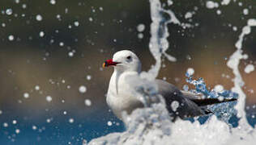
[[[139,97],[134,96],[130,90],[130,78],[138,77],[141,73],[141,62],[139,57],[129,50],[122,50],[113,55],[113,59],[106,60],[103,67],[113,66],[114,71],[109,81],[109,90],[107,93],[107,104],[113,110],[117,118],[122,119],[122,112],[130,114],[133,110],[143,107],[143,102]],[[143,81],[143,79],[139,80]],[[164,97],[166,108],[173,117],[173,121],[179,118],[190,118],[209,114],[205,106],[220,103],[232,102],[237,99],[224,99],[220,101],[217,98],[203,99],[194,93],[185,92],[177,89],[176,86],[166,81],[155,80],[158,93]],[[177,102],[179,106],[173,110],[172,102]]]

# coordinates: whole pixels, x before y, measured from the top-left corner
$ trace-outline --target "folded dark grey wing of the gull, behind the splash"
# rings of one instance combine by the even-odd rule
[[[190,99],[186,98],[175,85],[169,84],[166,81],[156,80],[159,93],[164,97],[166,108],[169,110],[170,116],[175,120],[177,117],[190,118],[205,114],[199,106]],[[172,109],[172,102],[179,102],[176,111]]]

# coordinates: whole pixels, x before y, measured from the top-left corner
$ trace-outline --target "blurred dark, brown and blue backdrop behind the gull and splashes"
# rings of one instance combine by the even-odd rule
[[[256,2],[232,0],[162,1],[190,28],[169,25],[168,53],[158,78],[180,89],[187,68],[211,89],[233,87],[226,65]],[[150,3],[138,0],[1,0],[0,142],[1,144],[81,144],[83,139],[124,131],[105,102],[113,68],[101,68],[113,53],[137,53],[147,71],[155,60],[148,49]],[[246,111],[256,122],[256,28],[246,35],[240,71]],[[192,86],[190,86],[192,87]],[[192,88],[191,88],[192,89]]]

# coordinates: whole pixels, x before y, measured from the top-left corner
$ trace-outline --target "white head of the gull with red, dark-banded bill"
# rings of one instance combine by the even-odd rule
[[[113,59],[106,60],[103,67],[113,66],[118,72],[138,72],[141,71],[139,57],[129,50],[122,50],[113,55]]]

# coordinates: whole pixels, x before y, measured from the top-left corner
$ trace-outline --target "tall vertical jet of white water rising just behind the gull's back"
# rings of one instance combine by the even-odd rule
[[[176,58],[166,53],[169,48],[169,31],[167,25],[174,23],[180,25],[180,21],[176,18],[172,10],[164,10],[160,0],[150,0],[151,7],[151,39],[149,50],[156,60],[156,64],[147,72],[143,73],[147,77],[155,79],[161,67],[161,57],[164,55],[170,61],[176,61]],[[169,15],[165,18],[163,15]]]

